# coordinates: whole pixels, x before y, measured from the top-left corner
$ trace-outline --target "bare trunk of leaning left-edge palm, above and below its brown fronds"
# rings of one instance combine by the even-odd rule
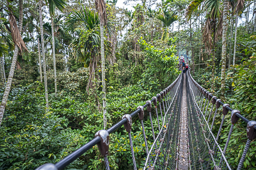
[[[23,0],[19,0],[19,32],[21,35],[21,30],[22,30],[22,22],[23,22]],[[0,105],[0,126],[3,120],[3,113],[5,111],[6,108],[6,104],[7,104],[7,100],[8,100],[8,96],[11,90],[11,85],[12,85],[12,78],[14,75],[14,71],[15,71],[15,66],[16,66],[16,62],[17,62],[17,56],[18,56],[18,52],[19,52],[19,48],[17,45],[15,45],[15,50],[14,50],[14,54],[12,57],[12,65],[9,71],[9,77],[6,83],[6,88],[4,90],[3,93],[3,100],[1,102]]]

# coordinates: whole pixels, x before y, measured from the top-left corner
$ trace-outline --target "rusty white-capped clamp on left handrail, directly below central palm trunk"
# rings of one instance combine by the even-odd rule
[[[95,133],[95,136],[99,136],[101,138],[101,141],[97,143],[97,146],[99,147],[99,151],[102,154],[102,156],[108,155],[108,148],[109,148],[109,134],[107,130],[99,130]]]

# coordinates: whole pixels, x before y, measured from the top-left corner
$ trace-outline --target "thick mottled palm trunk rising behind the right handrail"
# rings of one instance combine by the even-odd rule
[[[221,97],[224,99],[225,77],[226,77],[226,52],[227,52],[227,0],[223,5],[223,32],[222,32],[222,52],[221,52]]]

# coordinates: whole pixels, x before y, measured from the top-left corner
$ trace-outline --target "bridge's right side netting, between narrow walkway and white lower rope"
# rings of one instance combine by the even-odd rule
[[[192,108],[191,108],[191,113],[192,115],[197,115],[195,116],[195,120],[193,120],[191,123],[189,123],[190,127],[192,127],[193,124],[195,124],[195,130],[196,130],[196,134],[197,137],[199,138],[199,141],[195,141],[192,140],[191,142],[189,141],[189,143],[193,143],[193,145],[196,145],[199,142],[199,148],[197,148],[197,150],[200,152],[200,159],[197,157],[197,154],[194,150],[192,150],[192,152],[194,151],[195,153],[191,153],[192,154],[192,158],[197,158],[196,160],[192,160],[192,162],[195,162],[195,164],[192,163],[192,166],[196,166],[196,167],[192,167],[192,169],[220,169],[221,170],[225,170],[225,169],[229,169],[231,170],[226,158],[224,157],[224,154],[220,148],[220,146],[218,145],[214,135],[212,134],[210,127],[207,123],[207,120],[204,116],[204,112],[202,112],[199,107],[197,102],[195,101],[195,95],[193,91],[193,86],[195,87],[195,84],[192,83],[191,80],[191,75],[188,73],[188,88],[190,89],[188,92],[188,97],[190,98],[190,100],[193,102],[192,104]],[[207,93],[209,94],[209,93]],[[206,98],[208,98],[208,96],[206,96]],[[208,98],[208,105],[209,105],[209,101],[212,99],[212,97]],[[207,110],[206,110],[207,112]],[[195,134],[191,134],[191,135],[195,135]],[[190,138],[192,139],[192,138]],[[218,147],[213,147],[213,146],[218,146]],[[195,156],[193,156],[195,154]],[[224,161],[226,162],[225,165],[223,165],[222,167],[219,165],[220,162],[220,157],[223,156]]]

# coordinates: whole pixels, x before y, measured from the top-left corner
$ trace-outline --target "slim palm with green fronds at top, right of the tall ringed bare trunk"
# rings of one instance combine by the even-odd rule
[[[62,11],[65,6],[67,6],[67,3],[65,0],[48,0],[49,2],[49,11],[51,15],[51,21],[52,21],[52,56],[53,56],[53,69],[54,69],[54,85],[55,85],[55,96],[57,96],[57,76],[56,76],[56,60],[55,60],[55,38],[54,38],[54,25],[53,25],[53,19],[52,16],[55,14],[55,8],[58,8],[60,11]]]

